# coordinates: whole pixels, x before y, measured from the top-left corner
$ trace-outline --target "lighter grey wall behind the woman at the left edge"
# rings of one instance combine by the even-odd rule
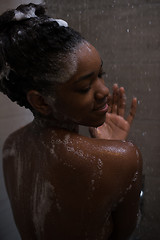
[[[5,10],[15,8],[19,4],[29,3],[28,0],[1,0],[0,14]],[[40,3],[41,0],[34,0]],[[6,96],[0,93],[0,240],[20,240],[16,230],[8,197],[6,194],[2,173],[2,146],[6,137],[33,119],[30,111],[12,103]]]

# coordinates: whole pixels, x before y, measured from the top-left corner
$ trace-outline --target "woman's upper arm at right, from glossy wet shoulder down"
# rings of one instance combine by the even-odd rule
[[[106,202],[106,206],[109,199],[112,204],[116,204],[112,211],[114,229],[111,240],[125,240],[137,222],[142,176],[141,154],[131,143],[97,139],[91,141],[94,148],[90,146],[86,151],[91,149],[92,156],[101,160],[101,166],[95,160],[97,170],[102,173],[95,193],[100,201]]]

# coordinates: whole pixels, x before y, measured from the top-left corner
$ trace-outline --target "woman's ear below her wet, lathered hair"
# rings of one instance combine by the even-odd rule
[[[30,90],[27,93],[27,100],[31,106],[45,116],[51,113],[51,107],[45,102],[44,97],[35,90]]]

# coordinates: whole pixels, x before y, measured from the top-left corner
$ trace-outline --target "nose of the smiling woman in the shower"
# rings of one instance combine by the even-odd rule
[[[107,98],[109,94],[109,89],[106,87],[104,80],[97,79],[97,83],[95,85],[95,99],[102,101]]]

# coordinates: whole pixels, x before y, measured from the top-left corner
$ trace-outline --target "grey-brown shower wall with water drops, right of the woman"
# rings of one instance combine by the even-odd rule
[[[144,160],[142,220],[134,239],[160,236],[160,2],[158,0],[46,0],[99,50],[106,83],[124,86],[127,104],[138,98],[129,140]],[[127,108],[128,109],[128,108]]]

